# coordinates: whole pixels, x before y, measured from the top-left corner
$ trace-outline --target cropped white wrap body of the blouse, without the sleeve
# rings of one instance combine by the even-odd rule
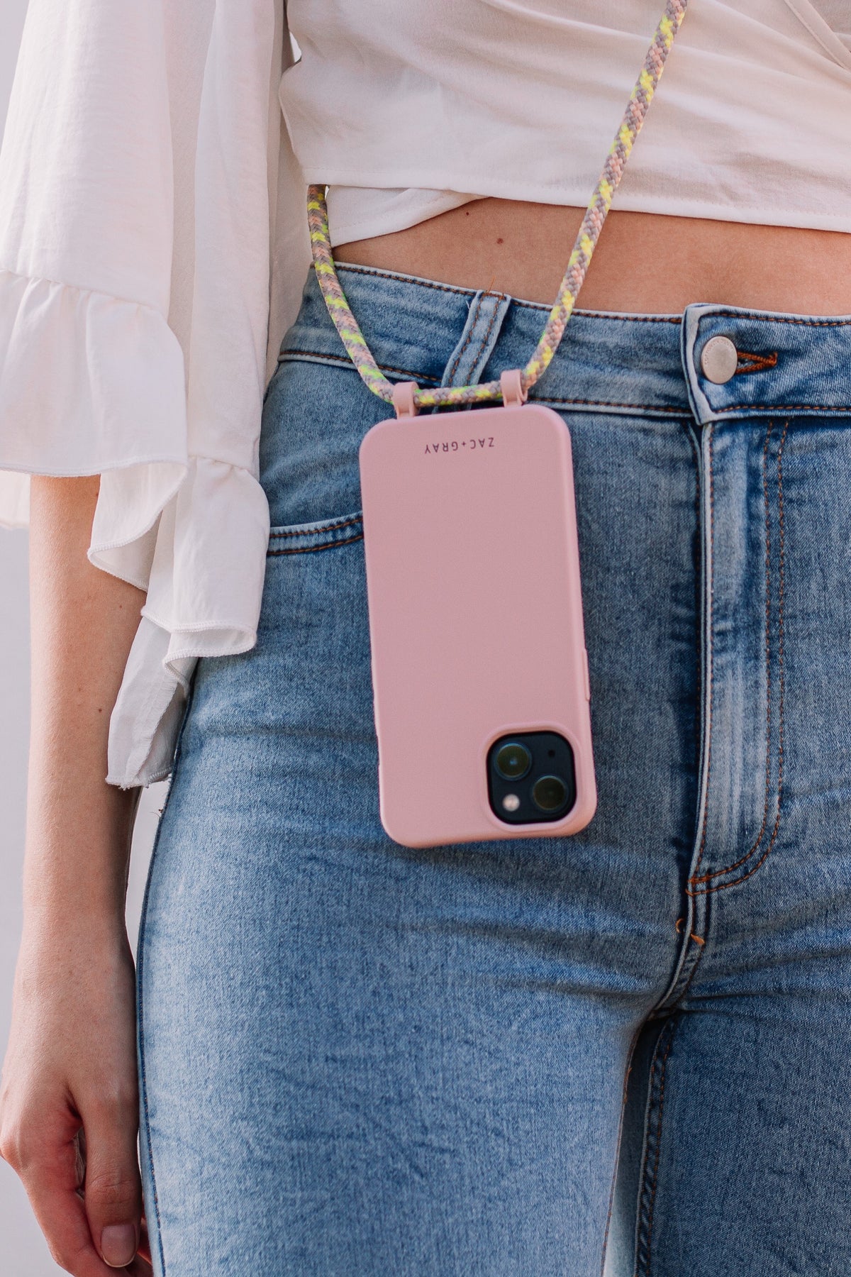
[[[584,207],[657,10],[292,0],[281,101],[332,244],[481,195]],[[850,231],[850,86],[851,0],[692,0],[616,207]]]

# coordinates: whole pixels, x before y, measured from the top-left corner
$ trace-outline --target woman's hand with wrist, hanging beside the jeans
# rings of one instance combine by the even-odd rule
[[[149,1274],[137,1156],[133,958],[124,928],[69,917],[24,936],[0,1091],[0,1154],[57,1264]],[[110,928],[112,930],[112,928]],[[149,1258],[149,1257],[147,1257]]]

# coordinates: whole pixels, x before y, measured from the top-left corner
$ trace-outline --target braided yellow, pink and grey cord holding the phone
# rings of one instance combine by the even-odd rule
[[[528,364],[522,370],[510,369],[503,373],[499,381],[480,382],[477,386],[439,386],[434,389],[420,389],[413,382],[390,382],[375,363],[337,277],[328,232],[325,188],[307,188],[310,245],[316,267],[316,278],[319,280],[328,313],[366,386],[387,404],[394,404],[398,415],[411,415],[421,407],[481,404],[499,398],[507,405],[509,402],[524,402],[529,387],[535,386],[559,349],[559,342],[573,313],[579,289],[588,273],[591,258],[597,246],[606,215],[611,208],[614,194],[618,190],[635,138],[640,132],[644,116],[653,100],[653,93],[665,69],[674,38],[685,17],[686,5],[688,0],[667,0],[665,13],[656,28],[653,42],[647,51],[640,75],[635,82],[624,117],[610,147],[600,181],[582,220],[568,269],[559,287],[559,295],[550,310],[541,340],[535,347]]]

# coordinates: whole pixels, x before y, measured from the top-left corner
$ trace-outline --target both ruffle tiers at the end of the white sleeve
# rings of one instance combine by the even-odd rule
[[[89,559],[147,591],[110,723],[107,779],[125,788],[171,770],[196,658],[256,640],[265,494],[186,439],[184,356],[162,314],[0,269],[0,524],[27,522],[31,474],[100,474]]]

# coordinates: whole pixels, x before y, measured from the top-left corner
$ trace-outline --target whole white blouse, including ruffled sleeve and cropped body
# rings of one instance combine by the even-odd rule
[[[840,3],[692,0],[619,207],[851,231]],[[0,521],[26,521],[29,474],[101,475],[89,558],[147,590],[111,783],[167,775],[195,660],[256,640],[306,183],[332,184],[336,243],[334,208],[375,234],[471,192],[584,204],[662,3],[566,8],[290,0],[296,64],[283,0],[31,0],[0,152]]]

